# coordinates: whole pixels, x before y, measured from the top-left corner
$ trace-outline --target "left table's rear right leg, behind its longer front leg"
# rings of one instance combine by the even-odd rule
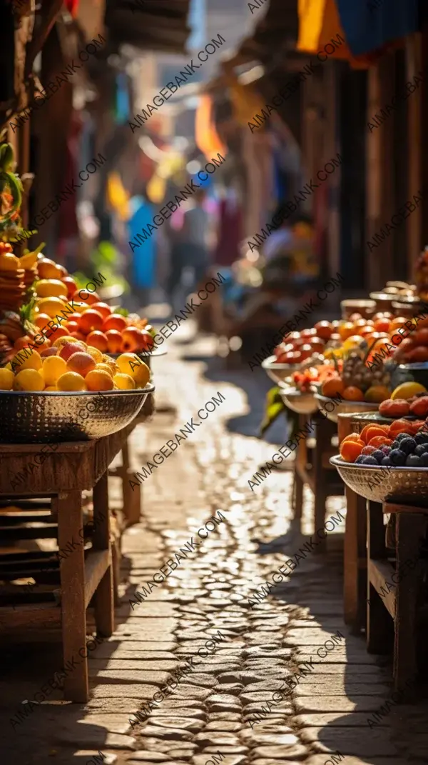
[[[99,582],[94,593],[95,621],[97,634],[109,637],[115,629],[113,605],[113,566],[112,546],[110,543],[110,514],[109,514],[109,474],[99,479],[93,488],[94,532],[93,549],[109,550],[110,565]]]

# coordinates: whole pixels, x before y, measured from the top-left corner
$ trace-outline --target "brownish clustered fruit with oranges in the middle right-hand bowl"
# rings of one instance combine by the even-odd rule
[[[352,350],[342,361],[337,363],[334,376],[329,376],[321,386],[323,396],[334,398],[342,396],[345,401],[365,401],[380,403],[391,396],[389,373],[381,365],[375,371],[365,366],[365,353]]]

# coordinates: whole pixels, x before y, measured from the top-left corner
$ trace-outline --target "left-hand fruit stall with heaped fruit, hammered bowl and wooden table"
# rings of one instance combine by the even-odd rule
[[[85,651],[87,617],[99,638],[114,629],[120,535],[141,512],[128,490],[128,437],[154,412],[160,352],[147,317],[100,299],[101,272],[83,284],[44,244],[22,246],[23,186],[6,142],[0,165],[0,632],[19,641],[29,629],[41,640],[61,630],[66,666]],[[122,478],[114,515],[109,474]],[[86,659],[64,691],[89,698]]]

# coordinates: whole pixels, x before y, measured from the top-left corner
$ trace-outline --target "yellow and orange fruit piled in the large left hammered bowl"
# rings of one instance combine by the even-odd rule
[[[41,353],[17,353],[0,369],[0,390],[133,390],[144,388],[149,379],[150,369],[135,353],[122,353],[113,360],[76,337],[60,337]]]

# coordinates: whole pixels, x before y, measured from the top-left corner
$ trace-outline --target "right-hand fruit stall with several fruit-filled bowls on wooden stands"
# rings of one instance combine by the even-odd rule
[[[365,630],[369,652],[393,651],[404,698],[417,693],[426,661],[427,272],[425,249],[414,285],[388,282],[365,300],[342,301],[340,319],[289,332],[262,362],[277,386],[272,417],[284,411],[290,421],[295,517],[305,485],[315,531],[327,497],[345,491],[345,621]]]

